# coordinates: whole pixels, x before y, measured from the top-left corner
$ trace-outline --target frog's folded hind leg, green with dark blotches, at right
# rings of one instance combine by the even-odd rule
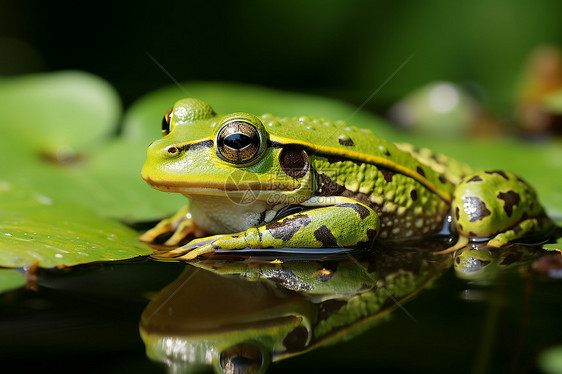
[[[491,247],[545,236],[554,229],[533,188],[505,171],[467,176],[455,191],[452,214],[461,236],[490,238]]]

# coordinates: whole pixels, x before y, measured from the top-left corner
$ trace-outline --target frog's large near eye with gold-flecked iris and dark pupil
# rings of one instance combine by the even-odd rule
[[[217,134],[217,154],[225,161],[243,164],[255,159],[259,152],[260,133],[248,122],[228,122]]]

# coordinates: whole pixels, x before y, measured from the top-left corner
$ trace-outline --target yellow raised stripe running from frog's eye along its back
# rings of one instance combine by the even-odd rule
[[[388,168],[390,170],[393,170],[397,173],[403,174],[405,176],[408,176],[418,181],[420,184],[428,188],[430,191],[432,191],[433,193],[435,193],[441,199],[443,199],[448,203],[451,202],[452,199],[451,194],[449,192],[440,189],[433,182],[428,180],[426,177],[420,175],[417,171],[411,170],[399,163],[396,163],[394,161],[391,161],[381,156],[372,155],[364,152],[357,152],[352,149],[336,148],[336,147],[330,147],[325,145],[313,144],[301,140],[284,138],[272,134],[270,134],[269,140],[275,143],[280,143],[281,145],[284,146],[290,144],[299,145],[311,151],[311,153],[316,154],[317,156],[330,156],[336,158],[341,157],[342,159],[349,160],[349,161],[359,161],[367,164],[383,166],[385,168]],[[398,152],[403,152],[398,148],[396,148],[396,150],[398,150]]]

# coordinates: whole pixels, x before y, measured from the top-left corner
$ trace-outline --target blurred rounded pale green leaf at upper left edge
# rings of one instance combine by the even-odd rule
[[[0,102],[1,142],[17,155],[91,153],[115,131],[121,114],[113,87],[78,71],[1,80]],[[13,144],[14,137],[20,142]]]

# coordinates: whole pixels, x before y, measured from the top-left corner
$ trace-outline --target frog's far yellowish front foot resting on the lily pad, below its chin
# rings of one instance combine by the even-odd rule
[[[158,237],[170,233],[172,235],[163,243],[166,246],[177,246],[190,235],[201,237],[204,234],[192,221],[186,205],[172,217],[163,219],[152,229],[142,234],[139,239],[146,243],[155,243]]]

